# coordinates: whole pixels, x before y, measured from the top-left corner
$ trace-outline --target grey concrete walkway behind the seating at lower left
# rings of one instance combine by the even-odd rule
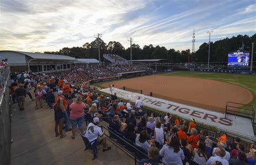
[[[84,151],[79,134],[76,139],[71,139],[71,131],[63,139],[55,137],[54,111],[45,102],[39,110],[34,109],[35,101],[28,97],[25,104],[24,111],[19,111],[17,104],[12,105],[11,164],[134,164],[132,157],[109,140],[111,150],[103,153],[102,145],[98,146],[98,158],[92,161],[92,150]]]

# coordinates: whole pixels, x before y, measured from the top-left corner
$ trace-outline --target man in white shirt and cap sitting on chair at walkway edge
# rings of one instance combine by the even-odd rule
[[[105,152],[107,150],[110,150],[111,147],[107,147],[106,137],[104,135],[105,131],[102,132],[102,129],[98,127],[98,124],[99,124],[99,118],[98,117],[93,118],[93,123],[90,123],[87,126],[84,137],[86,137],[90,143],[92,143],[95,140],[97,140],[98,144],[99,142],[102,142],[103,144],[102,151]]]

